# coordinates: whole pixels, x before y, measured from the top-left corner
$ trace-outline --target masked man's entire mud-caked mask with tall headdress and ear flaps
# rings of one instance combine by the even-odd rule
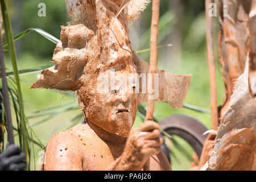
[[[73,20],[61,27],[61,41],[53,54],[57,64],[44,69],[31,88],[77,90],[79,104],[88,121],[109,133],[127,137],[135,120],[137,104],[147,101],[148,83],[151,82],[148,63],[139,60],[131,48],[129,22],[138,18],[148,1],[130,1],[118,16],[122,1],[66,3]],[[113,69],[116,83],[110,84],[108,92],[98,92],[98,85],[103,82],[99,79],[102,73],[108,75]],[[191,75],[173,75],[161,69],[156,72],[158,97],[154,100],[171,101],[171,107],[181,108]],[[130,74],[137,74],[140,79],[130,85]],[[142,79],[144,75],[146,81]],[[126,84],[120,84],[120,80],[127,80]],[[129,91],[138,85],[139,93]]]

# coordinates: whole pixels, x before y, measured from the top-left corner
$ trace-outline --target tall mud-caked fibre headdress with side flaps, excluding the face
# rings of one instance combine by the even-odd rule
[[[112,64],[119,64],[123,69],[134,64],[138,74],[148,73],[148,63],[139,60],[131,49],[129,22],[136,20],[149,2],[66,0],[72,21],[61,27],[61,40],[52,58],[57,64],[44,69],[30,88],[79,90],[82,84],[93,82],[94,73]],[[162,69],[156,73],[159,73],[159,98],[156,100],[170,101],[171,107],[181,108],[191,75],[174,75]],[[139,103],[146,102],[147,98],[147,93],[139,94]],[[80,105],[84,107],[81,102]]]

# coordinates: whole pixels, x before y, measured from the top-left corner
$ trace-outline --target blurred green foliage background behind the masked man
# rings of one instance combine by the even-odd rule
[[[17,2],[18,3],[17,5]],[[172,2],[179,1],[179,8],[172,7]],[[46,17],[38,16],[38,4],[46,3]],[[11,19],[13,20],[14,34],[26,30],[27,28],[42,28],[56,38],[60,39],[60,26],[66,25],[70,20],[67,16],[64,0],[10,0],[7,2],[11,10]],[[181,11],[178,16],[177,11]],[[18,14],[18,15],[17,15]],[[15,22],[20,22],[17,27]],[[217,40],[218,23],[217,18],[214,19],[214,40]],[[131,25],[130,38],[135,51],[150,47],[150,23],[151,23],[151,3],[143,12],[141,18]],[[177,26],[178,24],[178,26]],[[178,29],[176,29],[178,28]],[[175,30],[180,31],[180,48],[177,48],[176,42],[172,39],[172,35],[176,35]],[[170,44],[172,47],[159,48],[158,67],[165,69],[167,72],[178,74],[192,74],[191,87],[186,103],[210,109],[209,95],[209,72],[207,63],[207,49],[205,43],[205,17],[204,17],[204,1],[203,0],[173,0],[161,1],[160,4],[160,22],[159,22],[159,45]],[[217,41],[214,42],[216,49],[215,54],[218,59]],[[28,69],[36,68],[44,65],[49,65],[55,44],[47,39],[31,32],[29,35],[18,40],[16,46],[20,48],[18,68]],[[170,56],[172,50],[175,54],[180,55],[180,60],[175,60],[175,57]],[[146,61],[149,60],[149,52],[139,53],[138,56]],[[6,57],[7,54],[6,54]],[[220,64],[216,59],[216,74],[217,74],[217,94],[218,105],[221,104],[223,98],[224,85],[221,80]],[[6,67],[11,71],[10,60],[5,59]],[[8,72],[8,71],[7,71]],[[67,102],[77,103],[76,94],[73,92],[60,92],[57,90],[48,89],[28,89],[28,87],[36,80],[38,73],[21,76],[22,92],[26,115],[42,112],[43,109],[50,106],[58,106]],[[144,104],[146,105],[146,104]],[[183,113],[199,119],[205,126],[210,129],[210,116],[207,114],[197,113],[189,109],[173,109],[166,102],[156,102],[155,114],[167,117],[175,113]],[[81,121],[71,121],[77,114],[81,114],[79,108],[69,110],[63,114],[49,119],[40,125],[34,127],[36,135],[47,144],[53,133],[67,129],[69,126]],[[40,121],[41,118],[31,118],[31,125]],[[143,121],[137,117],[134,127],[141,124]],[[192,154],[192,148],[182,139],[178,138],[179,142]],[[176,153],[179,161],[174,160],[172,168],[175,170],[189,169],[190,162],[180,155],[179,151],[172,146],[172,150]],[[35,146],[36,169],[39,168],[38,160],[42,156],[42,149]]]

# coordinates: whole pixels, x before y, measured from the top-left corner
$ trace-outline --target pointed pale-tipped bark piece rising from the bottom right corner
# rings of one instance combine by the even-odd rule
[[[249,89],[249,56],[221,119],[208,170],[256,169],[256,98]]]

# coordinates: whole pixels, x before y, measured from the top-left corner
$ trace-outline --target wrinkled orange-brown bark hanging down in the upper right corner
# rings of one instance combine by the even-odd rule
[[[225,84],[224,104],[219,116],[228,109],[234,82],[243,73],[246,53],[250,52],[250,92],[256,94],[256,34],[255,0],[216,1],[221,28],[219,32],[219,55],[222,78]]]

